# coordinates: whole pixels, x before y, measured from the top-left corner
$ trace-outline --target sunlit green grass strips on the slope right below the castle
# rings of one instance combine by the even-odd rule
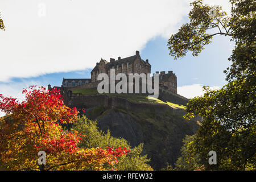
[[[85,95],[94,95],[100,94],[97,89],[89,89],[89,88],[81,88],[72,91],[73,93],[81,93]],[[143,102],[143,103],[153,103],[153,104],[167,104],[170,107],[178,108],[178,109],[186,109],[183,105],[174,104],[172,102],[163,102],[158,98],[150,97],[150,96],[139,96],[136,94],[117,94],[117,93],[107,93],[108,96],[118,96],[122,98],[126,98],[131,102]]]

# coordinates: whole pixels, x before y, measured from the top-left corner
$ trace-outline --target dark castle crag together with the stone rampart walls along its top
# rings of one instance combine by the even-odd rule
[[[125,138],[132,147],[144,143],[143,155],[151,158],[149,164],[156,170],[165,168],[167,163],[174,165],[185,135],[195,134],[201,121],[200,117],[188,121],[183,118],[185,110],[167,104],[131,102],[105,94],[68,93],[64,103],[69,107],[86,108],[86,116],[97,119],[100,130],[110,130],[113,137]],[[162,93],[160,96],[164,101],[177,104],[185,105],[188,101],[177,94]]]

